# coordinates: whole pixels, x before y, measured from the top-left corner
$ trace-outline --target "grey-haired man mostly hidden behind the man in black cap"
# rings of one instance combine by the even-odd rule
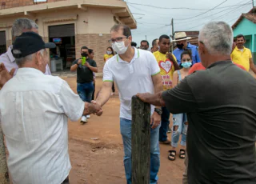
[[[38,25],[28,18],[18,18],[17,20],[15,20],[11,29],[13,42],[16,37],[27,31],[33,31],[38,34]],[[14,74],[16,74],[18,70],[18,65],[16,64],[15,58],[11,53],[12,49],[13,46],[9,46],[7,52],[0,56],[0,63],[3,63],[8,71],[15,69]],[[48,63],[46,65],[45,74],[51,75]]]

